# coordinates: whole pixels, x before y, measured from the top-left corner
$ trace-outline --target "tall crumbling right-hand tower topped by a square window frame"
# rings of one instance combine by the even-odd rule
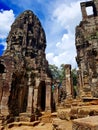
[[[87,7],[92,7],[92,15]],[[81,3],[81,11],[82,21],[76,27],[79,96],[98,98],[98,0]]]

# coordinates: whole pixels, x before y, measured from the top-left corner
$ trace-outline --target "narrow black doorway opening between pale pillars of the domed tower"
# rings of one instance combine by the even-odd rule
[[[39,93],[38,93],[38,102],[39,108],[41,111],[45,111],[45,102],[46,102],[46,85],[45,81],[41,81],[39,85]]]

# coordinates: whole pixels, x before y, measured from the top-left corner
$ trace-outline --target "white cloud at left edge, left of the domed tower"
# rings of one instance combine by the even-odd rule
[[[7,37],[14,19],[13,10],[0,10],[0,39]]]

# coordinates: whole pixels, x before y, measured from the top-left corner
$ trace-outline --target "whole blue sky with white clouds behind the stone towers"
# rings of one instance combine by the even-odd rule
[[[46,33],[46,58],[58,67],[76,68],[75,27],[81,21],[80,2],[87,0],[0,0],[0,55],[6,49],[6,37],[15,18],[32,10]]]

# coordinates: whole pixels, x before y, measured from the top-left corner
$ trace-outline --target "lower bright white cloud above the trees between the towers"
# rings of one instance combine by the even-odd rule
[[[71,64],[72,68],[77,68],[74,34],[64,34],[61,40],[56,44],[55,50],[57,51],[56,54],[54,52],[46,54],[46,58],[50,64],[55,64],[58,67],[60,67],[61,64]]]

